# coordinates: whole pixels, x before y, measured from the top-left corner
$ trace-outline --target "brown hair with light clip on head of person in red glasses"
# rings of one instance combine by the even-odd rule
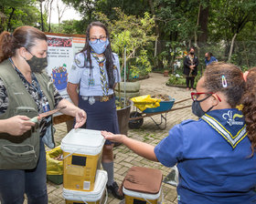
[[[207,66],[205,72],[204,87],[210,92],[222,92],[227,97],[230,107],[234,108],[240,104],[243,95],[245,81],[240,67],[223,63],[213,62]],[[227,87],[223,86],[223,79],[227,82]]]

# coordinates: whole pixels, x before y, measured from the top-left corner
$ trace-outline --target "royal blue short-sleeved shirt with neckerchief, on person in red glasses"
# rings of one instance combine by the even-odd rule
[[[256,156],[238,109],[208,112],[176,125],[155,147],[166,167],[177,163],[179,203],[256,203]]]

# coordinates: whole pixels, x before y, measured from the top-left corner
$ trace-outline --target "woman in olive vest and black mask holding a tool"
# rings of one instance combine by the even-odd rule
[[[76,117],[86,113],[60,97],[43,71],[48,66],[47,36],[35,27],[21,26],[0,36],[0,203],[47,204],[47,164],[44,144],[54,148],[52,117],[32,117],[66,107]]]

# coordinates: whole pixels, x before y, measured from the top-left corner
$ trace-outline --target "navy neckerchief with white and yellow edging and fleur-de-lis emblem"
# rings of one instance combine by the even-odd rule
[[[244,117],[236,108],[212,110],[201,118],[214,128],[232,148],[236,148],[247,136]]]

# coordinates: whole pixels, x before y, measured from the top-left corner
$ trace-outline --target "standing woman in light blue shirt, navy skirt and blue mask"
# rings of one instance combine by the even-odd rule
[[[120,133],[114,97],[114,86],[120,78],[119,58],[112,53],[109,32],[100,22],[92,22],[86,30],[85,46],[75,56],[68,83],[69,97],[87,113],[83,128]],[[113,143],[107,140],[101,164],[108,172],[107,189],[115,198],[123,199],[113,179],[112,148]]]

